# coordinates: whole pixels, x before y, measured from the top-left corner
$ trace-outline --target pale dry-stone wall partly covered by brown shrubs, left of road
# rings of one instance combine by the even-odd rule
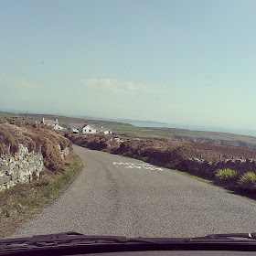
[[[61,158],[69,155],[69,147],[61,150]],[[15,155],[0,155],[0,191],[13,187],[17,183],[26,183],[36,180],[44,168],[44,159],[41,152],[28,152],[23,144],[18,145]]]

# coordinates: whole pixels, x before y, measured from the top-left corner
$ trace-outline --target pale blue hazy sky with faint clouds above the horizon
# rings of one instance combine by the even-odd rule
[[[0,110],[256,130],[256,1],[0,1]]]

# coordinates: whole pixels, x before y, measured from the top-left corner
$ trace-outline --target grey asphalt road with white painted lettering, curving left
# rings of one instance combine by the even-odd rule
[[[256,231],[256,202],[136,159],[74,146],[86,166],[71,187],[18,230],[30,236],[187,237]]]

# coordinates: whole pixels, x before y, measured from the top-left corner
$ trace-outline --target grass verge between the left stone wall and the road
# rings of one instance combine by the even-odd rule
[[[48,207],[79,176],[82,166],[80,157],[70,154],[62,174],[45,173],[37,181],[0,192],[0,238],[10,237],[27,220]]]

